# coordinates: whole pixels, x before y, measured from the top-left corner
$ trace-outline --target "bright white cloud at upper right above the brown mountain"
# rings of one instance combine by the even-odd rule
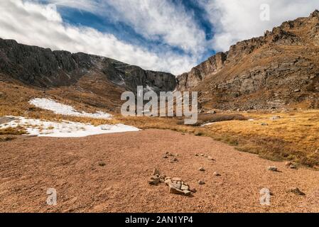
[[[212,46],[225,51],[239,40],[264,34],[283,21],[308,16],[319,1],[309,0],[200,0],[215,28]],[[261,4],[269,4],[270,21],[261,21]]]

